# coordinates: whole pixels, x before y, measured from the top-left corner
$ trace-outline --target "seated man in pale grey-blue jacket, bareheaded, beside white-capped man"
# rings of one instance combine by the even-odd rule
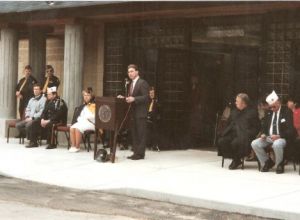
[[[34,121],[39,121],[45,107],[46,98],[42,95],[41,86],[35,84],[33,86],[34,97],[32,97],[25,110],[25,119],[16,124],[19,130],[19,136],[26,137],[31,140],[31,126]],[[33,143],[31,143],[33,144]]]

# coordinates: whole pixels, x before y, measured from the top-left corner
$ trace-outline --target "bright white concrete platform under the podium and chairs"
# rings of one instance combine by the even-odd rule
[[[200,150],[146,153],[131,161],[118,151],[115,164],[99,163],[92,152],[69,153],[66,147],[26,149],[0,138],[0,172],[26,180],[85,190],[103,190],[140,198],[252,214],[300,219],[300,176],[292,165],[278,175],[261,173],[257,163],[245,170],[221,167],[216,152]]]

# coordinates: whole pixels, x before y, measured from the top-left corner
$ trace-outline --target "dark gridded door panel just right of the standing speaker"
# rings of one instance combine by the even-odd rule
[[[188,84],[190,53],[179,49],[159,51],[157,86],[161,105],[161,145],[185,148],[188,123]]]

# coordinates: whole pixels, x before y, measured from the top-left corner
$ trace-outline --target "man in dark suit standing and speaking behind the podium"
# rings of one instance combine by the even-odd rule
[[[133,155],[128,159],[140,160],[145,157],[147,142],[147,113],[149,103],[149,85],[139,77],[138,67],[130,64],[127,68],[128,76],[132,80],[129,85],[126,102],[131,105],[130,129],[132,135]]]

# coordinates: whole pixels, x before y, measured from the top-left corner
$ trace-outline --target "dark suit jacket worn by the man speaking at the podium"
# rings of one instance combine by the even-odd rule
[[[145,80],[139,78],[134,86],[132,96],[135,99],[135,101],[131,104],[132,117],[147,118],[149,103],[148,83]]]

